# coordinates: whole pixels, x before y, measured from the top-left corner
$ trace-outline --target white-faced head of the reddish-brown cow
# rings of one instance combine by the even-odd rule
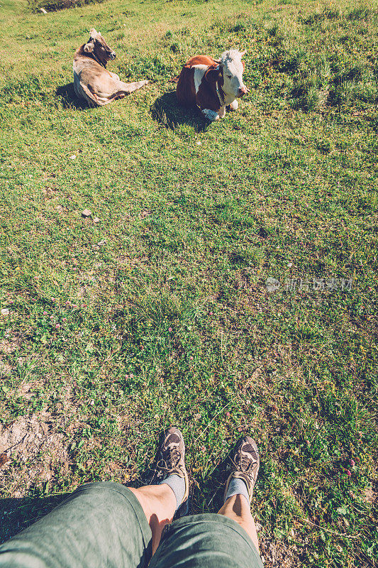
[[[219,67],[212,70],[211,75],[206,73],[206,79],[218,80],[223,77],[221,85],[223,92],[230,97],[243,97],[248,92],[247,87],[243,83],[244,61],[242,57],[245,51],[240,52],[237,49],[225,51],[219,60]],[[216,77],[218,75],[218,78]]]

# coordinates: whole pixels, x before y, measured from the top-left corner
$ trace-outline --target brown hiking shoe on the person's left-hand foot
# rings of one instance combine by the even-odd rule
[[[163,483],[170,475],[178,475],[184,479],[185,492],[181,506],[176,516],[182,516],[189,509],[189,478],[185,467],[185,444],[182,432],[174,426],[165,430],[160,448],[157,452],[157,464],[155,467],[157,483]],[[180,510],[181,509],[181,510]]]

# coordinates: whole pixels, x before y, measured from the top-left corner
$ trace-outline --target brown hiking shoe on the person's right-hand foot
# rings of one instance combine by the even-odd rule
[[[231,471],[226,481],[224,496],[226,498],[231,479],[243,479],[251,502],[253,488],[255,487],[260,467],[259,451],[255,440],[249,436],[240,439],[230,455],[230,460],[233,464],[233,471]]]

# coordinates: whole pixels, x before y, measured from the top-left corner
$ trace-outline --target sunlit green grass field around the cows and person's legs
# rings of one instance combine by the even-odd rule
[[[140,483],[173,423],[194,512],[257,440],[265,566],[377,566],[377,4],[0,12],[1,537]],[[150,79],[101,109],[72,89],[91,27]],[[169,80],[231,47],[250,93],[209,126]]]

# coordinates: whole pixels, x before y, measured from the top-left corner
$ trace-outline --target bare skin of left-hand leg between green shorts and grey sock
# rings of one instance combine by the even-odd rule
[[[162,530],[165,525],[172,523],[176,510],[176,497],[167,484],[147,485],[133,489],[135,497],[143,508],[152,531],[152,554],[159,546]]]

